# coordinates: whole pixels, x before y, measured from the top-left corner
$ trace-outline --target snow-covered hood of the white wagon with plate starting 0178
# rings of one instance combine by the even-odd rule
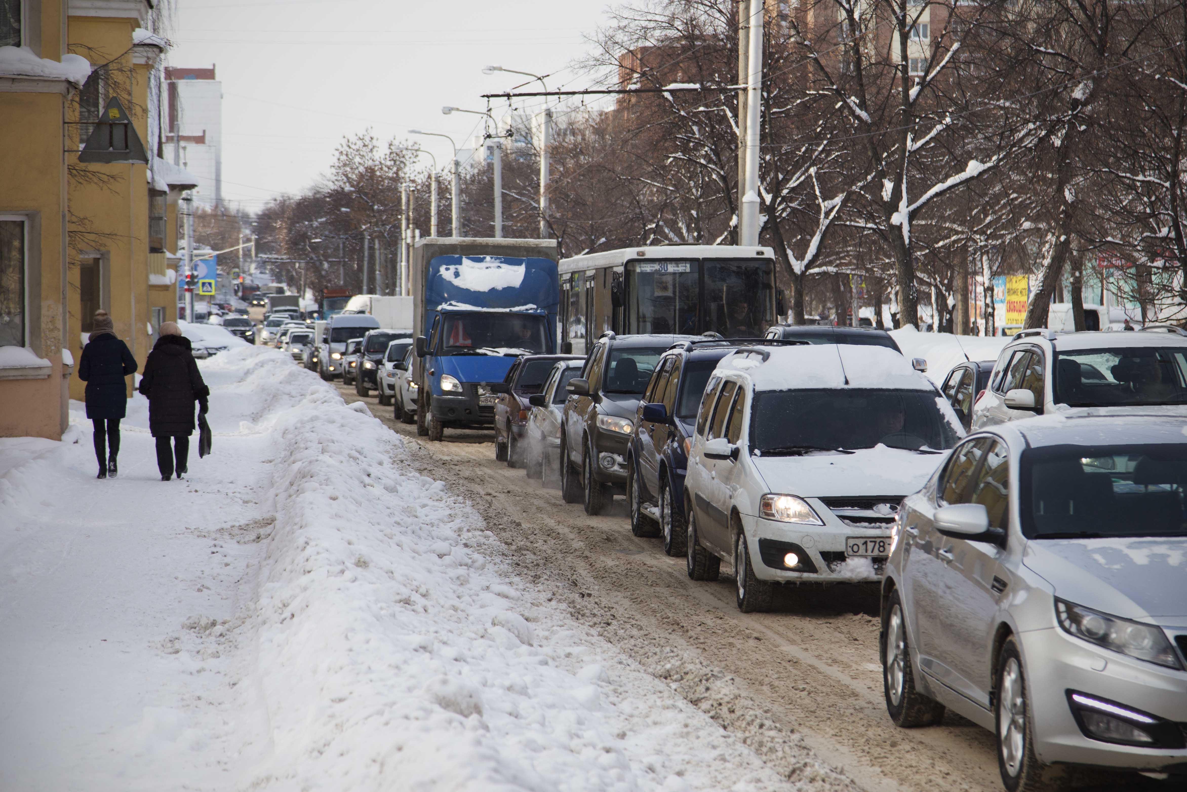
[[[807,456],[751,456],[770,492],[804,498],[858,498],[918,492],[947,458],[876,445],[852,454],[823,451]]]

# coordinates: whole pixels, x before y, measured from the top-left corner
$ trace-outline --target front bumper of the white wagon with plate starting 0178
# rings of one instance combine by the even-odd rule
[[[824,518],[827,519],[827,518]],[[850,557],[845,553],[846,537],[886,537],[890,532],[855,528],[842,524],[799,525],[760,517],[742,515],[747,547],[754,576],[779,583],[874,583],[882,579],[886,558]],[[791,547],[788,545],[794,545]],[[792,571],[780,559],[787,552],[806,557],[811,566]],[[767,556],[767,559],[763,559]],[[769,562],[769,563],[768,563]],[[811,570],[815,571],[811,571]]]

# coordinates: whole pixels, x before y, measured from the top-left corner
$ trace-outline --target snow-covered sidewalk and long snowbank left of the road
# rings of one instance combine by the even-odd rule
[[[793,787],[575,629],[313,374],[261,348],[202,369],[215,454],[186,482],[159,481],[139,398],[115,481],[89,424],[0,441],[0,788],[837,783]]]

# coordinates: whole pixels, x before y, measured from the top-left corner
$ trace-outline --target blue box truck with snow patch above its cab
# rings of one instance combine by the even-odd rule
[[[554,240],[419,240],[411,286],[418,362],[417,433],[495,422],[491,382],[523,354],[557,351]]]

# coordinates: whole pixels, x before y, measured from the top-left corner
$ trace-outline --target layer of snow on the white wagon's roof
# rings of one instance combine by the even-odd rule
[[[769,353],[766,361],[747,349]],[[795,347],[742,347],[717,365],[718,370],[749,374],[757,391],[792,388],[893,388],[934,391],[935,386],[910,367],[906,357],[887,347],[804,344]]]

